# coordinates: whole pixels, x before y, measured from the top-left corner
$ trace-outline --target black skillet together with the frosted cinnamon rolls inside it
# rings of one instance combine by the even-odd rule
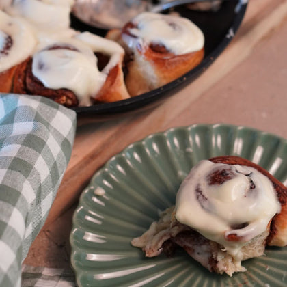
[[[109,31],[75,18],[73,5],[74,0],[1,1],[1,93],[44,96],[78,114],[158,105],[212,64],[247,4],[143,12]]]

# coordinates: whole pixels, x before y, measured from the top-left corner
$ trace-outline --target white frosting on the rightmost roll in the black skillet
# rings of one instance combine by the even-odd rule
[[[199,51],[204,46],[204,34],[187,18],[143,12],[133,18],[135,28],[128,29],[135,37],[124,35],[123,39],[131,48],[140,44],[161,44],[175,55]]]

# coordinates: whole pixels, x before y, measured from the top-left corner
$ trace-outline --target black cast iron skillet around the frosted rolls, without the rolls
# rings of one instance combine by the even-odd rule
[[[90,107],[74,107],[72,109],[78,115],[94,115],[94,117],[105,118],[107,120],[115,118],[117,115],[122,115],[122,113],[139,112],[159,105],[168,96],[172,96],[172,94],[175,94],[202,74],[226,49],[226,46],[228,46],[238,27],[241,25],[247,8],[247,2],[247,0],[223,1],[220,10],[217,12],[192,11],[184,8],[184,5],[178,6],[176,11],[181,16],[191,19],[204,33],[205,57],[199,66],[171,83],[145,94],[118,102],[97,104]],[[90,31],[100,36],[105,36],[105,33],[107,33],[105,30],[85,25],[85,23],[74,18],[74,16],[71,16],[71,25],[79,31]]]

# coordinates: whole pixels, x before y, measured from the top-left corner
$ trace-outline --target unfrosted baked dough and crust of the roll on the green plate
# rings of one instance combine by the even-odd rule
[[[287,189],[279,180],[269,174],[269,172],[247,159],[242,159],[238,156],[219,156],[210,159],[209,161],[216,164],[219,163],[219,165],[223,163],[225,164],[225,167],[230,167],[230,165],[236,165],[236,167],[251,167],[253,168],[253,172],[254,170],[257,170],[260,174],[267,176],[267,182],[271,182],[270,186],[273,186],[272,193],[275,195],[275,206],[277,204],[280,210],[279,213],[276,213],[270,220],[267,219],[267,226],[265,226],[264,230],[251,239],[247,240],[245,238],[245,240],[243,240],[241,235],[246,234],[246,231],[244,231],[244,233],[240,232],[240,230],[241,228],[244,229],[245,226],[248,226],[249,224],[244,223],[233,226],[232,228],[234,230],[231,230],[227,233],[228,235],[226,235],[226,240],[230,241],[230,246],[232,247],[232,243],[234,243],[234,246],[237,248],[236,251],[240,253],[240,260],[238,260],[238,253],[232,253],[232,251],[234,251],[234,249],[232,249],[233,247],[230,251],[230,249],[226,248],[226,246],[223,246],[221,243],[203,236],[200,233],[200,230],[195,230],[195,228],[191,228],[187,224],[180,223],[176,218],[175,206],[169,207],[161,213],[159,221],[154,221],[145,233],[134,238],[131,243],[133,246],[143,249],[147,257],[158,256],[161,252],[169,253],[170,255],[176,246],[180,246],[209,271],[219,274],[227,273],[232,276],[234,272],[246,271],[245,267],[241,266],[241,261],[262,256],[267,245],[279,247],[287,245]],[[221,185],[224,182],[228,182],[228,180],[233,177],[232,172],[226,172],[226,168],[220,168],[217,170],[218,172],[209,176],[212,180],[211,183],[208,184],[213,184],[215,186]],[[249,174],[247,176],[249,176]],[[250,178],[248,178],[248,180],[250,180]],[[253,184],[254,182],[251,180],[250,189],[255,190]],[[269,184],[267,185],[269,186]],[[256,195],[251,195],[253,199],[254,196]],[[203,206],[202,208],[210,208],[210,203],[206,202],[207,198],[200,189],[198,191],[197,200],[202,201],[200,203]],[[189,208],[189,210],[191,209]],[[243,210],[242,214],[244,215],[244,213]],[[195,221],[200,221],[199,217],[201,215],[199,214],[193,215],[191,212],[191,215],[189,216],[195,219]],[[228,214],[226,214],[226,217],[228,217]],[[253,232],[252,228],[251,232]],[[242,243],[240,243],[240,241],[242,241]],[[240,243],[238,245],[239,248],[236,243]]]

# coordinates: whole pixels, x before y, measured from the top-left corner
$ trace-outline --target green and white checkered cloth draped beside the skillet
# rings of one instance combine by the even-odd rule
[[[57,193],[75,126],[74,111],[47,98],[0,94],[0,286],[20,286],[21,263]]]

